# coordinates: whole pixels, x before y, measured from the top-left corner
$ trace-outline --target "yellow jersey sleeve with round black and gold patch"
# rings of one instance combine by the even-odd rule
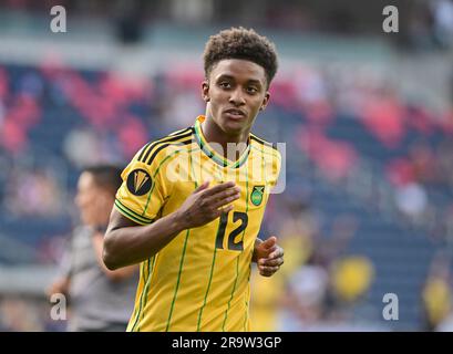
[[[115,208],[124,217],[140,225],[152,223],[158,216],[166,197],[164,174],[158,164],[146,164],[138,152],[121,177],[123,184],[116,192]]]

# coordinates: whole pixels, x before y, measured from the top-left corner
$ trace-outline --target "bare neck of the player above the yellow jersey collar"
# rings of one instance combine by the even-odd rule
[[[240,149],[236,152],[236,159],[237,159],[240,157],[240,155],[244,153],[244,150],[247,147],[247,142],[248,142],[250,129],[240,132],[240,134],[237,134],[237,135],[227,135],[225,134],[224,131],[219,128],[219,126],[214,122],[213,118],[206,117],[206,119],[202,123],[202,132],[207,143],[217,143],[210,146],[213,149],[215,149],[218,154],[223,155],[224,157],[227,157],[228,143],[229,144],[243,143],[240,145]],[[220,146],[218,145],[222,146],[222,150],[220,150]]]

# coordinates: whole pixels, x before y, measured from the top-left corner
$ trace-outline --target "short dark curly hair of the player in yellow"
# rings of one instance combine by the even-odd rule
[[[243,59],[264,67],[269,87],[277,72],[277,52],[275,44],[253,29],[230,28],[212,35],[203,54],[206,77],[214,65],[224,59]]]

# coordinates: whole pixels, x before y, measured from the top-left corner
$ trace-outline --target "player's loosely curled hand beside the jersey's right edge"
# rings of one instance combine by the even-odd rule
[[[259,273],[262,277],[271,277],[284,264],[284,249],[277,244],[275,236],[269,237],[255,248],[255,254]]]

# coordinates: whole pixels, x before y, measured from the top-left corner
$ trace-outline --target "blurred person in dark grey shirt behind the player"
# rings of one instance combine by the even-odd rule
[[[69,296],[68,331],[125,331],[134,305],[137,267],[110,271],[102,261],[103,236],[109,223],[121,169],[86,168],[80,176],[75,204],[82,225],[71,238],[58,279],[49,296]]]

